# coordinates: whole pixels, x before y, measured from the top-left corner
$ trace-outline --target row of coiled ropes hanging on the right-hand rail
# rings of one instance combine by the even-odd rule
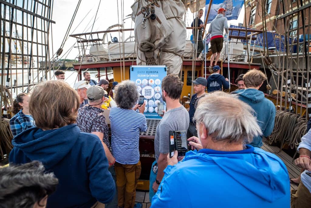
[[[290,112],[277,111],[269,143],[281,142],[280,151],[284,144],[288,144],[291,149],[297,149],[306,129],[307,125],[304,118],[297,117]]]

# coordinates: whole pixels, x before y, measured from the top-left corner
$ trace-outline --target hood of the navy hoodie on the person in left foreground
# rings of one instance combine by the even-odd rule
[[[46,131],[33,127],[14,137],[12,144],[30,160],[40,160],[46,168],[51,168],[72,150],[79,134],[77,124]]]

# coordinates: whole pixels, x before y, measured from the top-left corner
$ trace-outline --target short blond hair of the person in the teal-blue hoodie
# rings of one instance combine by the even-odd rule
[[[245,87],[258,87],[267,79],[266,75],[258,69],[252,69],[243,76]]]

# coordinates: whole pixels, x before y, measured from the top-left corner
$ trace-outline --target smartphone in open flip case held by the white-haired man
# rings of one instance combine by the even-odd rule
[[[169,131],[169,158],[174,156],[174,151],[178,151],[178,156],[185,156],[189,151],[186,131]]]

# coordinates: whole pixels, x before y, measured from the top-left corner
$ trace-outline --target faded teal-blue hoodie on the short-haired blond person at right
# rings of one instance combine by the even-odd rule
[[[265,137],[269,136],[274,128],[276,114],[276,108],[273,102],[265,98],[263,92],[252,88],[237,90],[236,94],[239,95],[241,101],[246,102],[255,111],[254,116],[257,118],[262,135]],[[250,144],[254,147],[261,147],[262,136],[254,137]]]

